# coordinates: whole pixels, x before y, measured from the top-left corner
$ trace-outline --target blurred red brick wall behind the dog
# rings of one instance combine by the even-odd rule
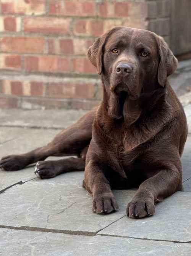
[[[114,26],[169,38],[169,0],[0,0],[0,107],[91,109],[102,97],[86,58]]]

